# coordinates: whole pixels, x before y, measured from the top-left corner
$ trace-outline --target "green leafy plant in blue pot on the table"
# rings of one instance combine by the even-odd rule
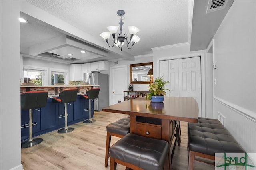
[[[168,85],[169,81],[164,81],[163,77],[157,77],[154,80],[154,83],[148,85],[150,93],[146,96],[146,99],[151,100],[152,102],[162,102],[164,101],[164,96],[166,96],[166,90],[164,86]]]

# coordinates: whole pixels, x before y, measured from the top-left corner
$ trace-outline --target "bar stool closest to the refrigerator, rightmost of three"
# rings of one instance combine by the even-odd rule
[[[86,91],[86,95],[81,95],[81,99],[88,99],[89,100],[89,109],[84,109],[84,111],[89,110],[89,119],[85,120],[84,123],[93,123],[95,120],[92,120],[91,118],[91,100],[97,99],[99,97],[100,88],[93,88]]]

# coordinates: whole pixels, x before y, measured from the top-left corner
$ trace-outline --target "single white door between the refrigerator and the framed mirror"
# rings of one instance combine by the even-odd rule
[[[128,89],[126,75],[126,65],[110,67],[110,105],[124,101],[123,91]]]

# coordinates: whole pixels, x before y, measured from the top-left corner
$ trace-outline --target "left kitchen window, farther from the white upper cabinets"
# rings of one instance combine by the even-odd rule
[[[23,67],[24,83],[35,83],[35,85],[46,85],[46,69]]]

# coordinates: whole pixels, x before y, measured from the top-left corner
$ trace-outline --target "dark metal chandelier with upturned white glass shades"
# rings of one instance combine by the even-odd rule
[[[110,37],[110,34],[112,34],[113,36],[113,45],[110,46],[108,43],[109,47],[114,47],[114,45],[116,45],[117,47],[119,47],[120,51],[122,51],[122,46],[124,45],[124,43],[126,43],[127,48],[128,49],[132,49],[132,46],[140,41],[140,38],[138,36],[136,36],[135,34],[137,32],[139,32],[140,30],[135,27],[135,26],[128,26],[129,32],[130,32],[130,41],[128,40],[127,34],[123,35],[123,24],[124,22],[122,22],[122,20],[124,20],[124,10],[118,10],[117,14],[120,16],[120,33],[117,33],[117,30],[119,28],[119,26],[108,26],[108,30],[107,32],[102,32],[100,34],[100,36],[102,36],[102,38],[104,40],[106,40],[106,42],[108,43],[108,39]],[[128,46],[130,44],[130,47]]]

